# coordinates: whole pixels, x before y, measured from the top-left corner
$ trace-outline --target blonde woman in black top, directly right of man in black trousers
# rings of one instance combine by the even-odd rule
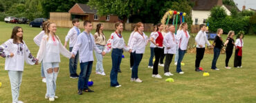
[[[216,67],[216,63],[217,63],[217,60],[219,58],[219,54],[221,52],[221,49],[223,47],[223,41],[222,41],[222,38],[221,38],[221,34],[223,34],[223,30],[221,28],[219,28],[217,30],[217,36],[215,36],[215,38],[214,38],[214,49],[213,49],[214,56],[213,56],[213,59],[212,59],[212,67],[211,67],[212,70],[219,70]]]

